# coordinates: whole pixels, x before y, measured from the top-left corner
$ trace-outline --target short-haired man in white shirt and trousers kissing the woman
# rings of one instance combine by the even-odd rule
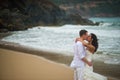
[[[86,30],[81,30],[79,32],[80,40],[86,40],[88,37],[88,32]],[[82,42],[77,41],[74,45],[74,58],[71,63],[71,67],[74,68],[74,80],[83,80],[83,70],[85,68],[85,64],[92,66],[92,63],[89,62],[86,58],[86,50],[85,46]]]

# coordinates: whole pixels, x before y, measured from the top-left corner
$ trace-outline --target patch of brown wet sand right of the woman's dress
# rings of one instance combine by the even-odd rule
[[[94,72],[107,76],[110,80],[120,80],[120,64],[105,64],[101,61],[93,61]]]

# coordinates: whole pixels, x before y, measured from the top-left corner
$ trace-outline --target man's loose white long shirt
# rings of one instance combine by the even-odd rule
[[[77,41],[74,45],[74,58],[71,63],[72,68],[84,68],[85,63],[82,61],[82,58],[86,56],[86,49],[82,42]]]

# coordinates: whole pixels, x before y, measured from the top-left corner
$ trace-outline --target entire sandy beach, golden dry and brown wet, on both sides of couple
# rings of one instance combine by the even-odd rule
[[[4,36],[3,36],[4,37]],[[0,41],[0,80],[73,80],[73,56]],[[94,72],[120,80],[120,65],[94,60]]]

